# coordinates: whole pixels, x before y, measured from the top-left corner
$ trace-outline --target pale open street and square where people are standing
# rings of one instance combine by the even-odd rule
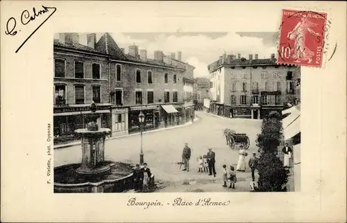
[[[158,181],[158,192],[212,192],[212,191],[249,191],[251,170],[237,172],[238,182],[234,190],[223,188],[222,166],[237,166],[238,146],[231,150],[226,145],[223,130],[227,127],[237,133],[246,133],[251,141],[249,157],[257,152],[256,135],[260,132],[261,120],[220,118],[196,111],[199,118],[192,125],[171,130],[150,132],[143,135],[144,161]],[[181,154],[184,143],[192,149],[190,171],[178,170],[182,161]],[[217,177],[198,172],[196,158],[208,152],[208,148],[216,153]],[[139,162],[140,136],[128,136],[105,142],[105,160],[130,163]],[[258,154],[259,156],[259,154]],[[54,150],[54,166],[81,162],[81,145]],[[257,175],[256,175],[257,178]]]

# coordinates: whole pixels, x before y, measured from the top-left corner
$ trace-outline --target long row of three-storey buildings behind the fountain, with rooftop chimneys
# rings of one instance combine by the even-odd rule
[[[56,138],[73,139],[74,130],[85,127],[92,102],[99,126],[110,128],[112,136],[139,132],[140,111],[145,131],[184,123],[185,69],[163,57],[155,51],[154,60],[148,59],[138,46],[129,46],[126,54],[108,33],[98,42],[96,34],[88,34],[87,45],[77,33],[61,33],[54,39]]]

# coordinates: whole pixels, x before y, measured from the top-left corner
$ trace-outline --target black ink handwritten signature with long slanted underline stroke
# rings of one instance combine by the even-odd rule
[[[20,48],[22,48],[22,46],[24,46],[24,44],[34,35],[34,33],[36,33],[36,31],[56,12],[57,8],[55,7],[47,7],[47,6],[42,6],[42,10],[36,10],[35,8],[33,8],[33,12],[29,12],[28,10],[24,10],[22,12],[22,15],[20,17],[21,23],[26,26],[28,24],[30,24],[31,21],[34,21],[37,17],[40,17],[40,15],[43,15],[47,12],[50,12],[49,17],[47,17],[46,19],[44,19],[44,21],[37,26],[37,28],[35,28],[35,30],[33,31],[33,33],[31,33],[31,35],[29,35],[24,42],[19,46],[19,48],[17,48],[17,51],[15,53],[17,53],[19,51]],[[19,32],[21,30],[19,29]],[[8,19],[7,23],[6,23],[6,31],[5,34],[6,35],[17,35],[17,21],[15,19],[15,17],[10,17],[10,19]]]

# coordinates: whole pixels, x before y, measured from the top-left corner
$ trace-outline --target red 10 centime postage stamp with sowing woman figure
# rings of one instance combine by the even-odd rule
[[[282,10],[279,64],[321,67],[327,13]]]

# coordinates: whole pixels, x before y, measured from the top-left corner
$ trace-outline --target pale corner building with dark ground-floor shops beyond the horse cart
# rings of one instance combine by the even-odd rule
[[[297,66],[277,64],[275,55],[236,58],[222,55],[208,67],[212,82],[212,111],[219,116],[260,119],[294,103]]]

